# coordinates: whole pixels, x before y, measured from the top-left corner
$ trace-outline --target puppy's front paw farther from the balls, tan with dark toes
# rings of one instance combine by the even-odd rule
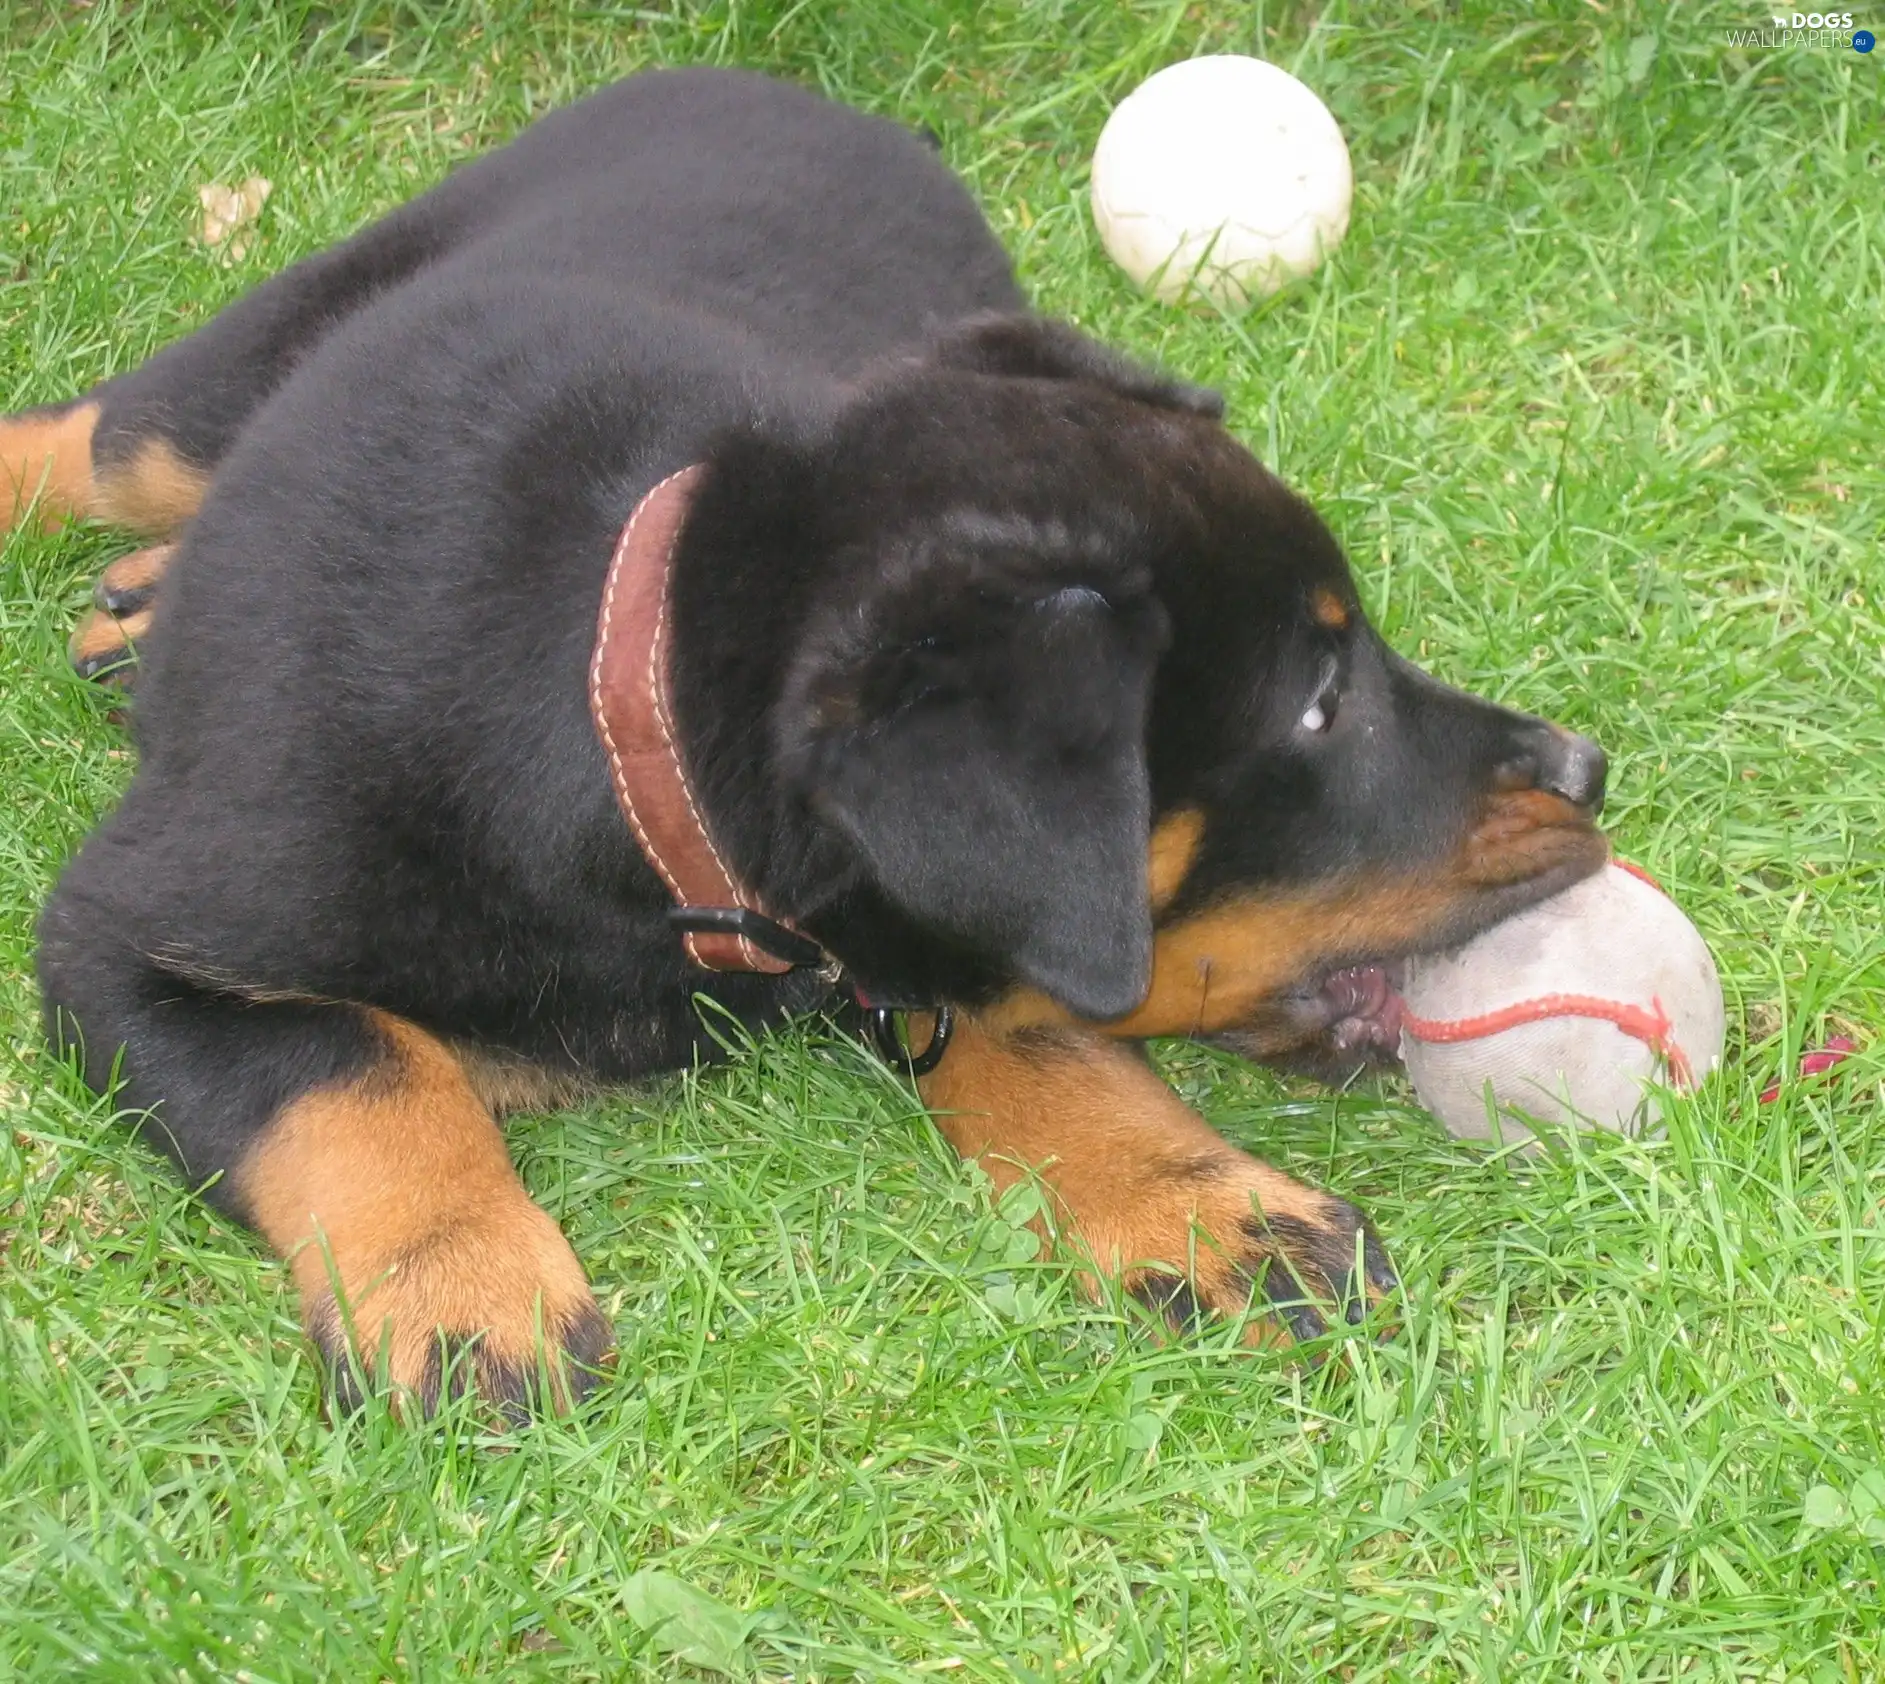
[[[294,1277],[343,1409],[383,1392],[432,1414],[475,1388],[513,1420],[560,1412],[613,1345],[569,1243],[522,1196],[386,1248],[311,1239]]]

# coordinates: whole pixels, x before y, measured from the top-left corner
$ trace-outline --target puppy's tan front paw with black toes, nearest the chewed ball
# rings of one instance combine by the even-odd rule
[[[1246,1343],[1320,1339],[1395,1290],[1387,1252],[1346,1199],[1229,1148],[1174,1167],[1174,1179],[1188,1186],[1172,1190],[1165,1233],[1146,1235],[1140,1267],[1123,1275],[1174,1329],[1257,1311]]]

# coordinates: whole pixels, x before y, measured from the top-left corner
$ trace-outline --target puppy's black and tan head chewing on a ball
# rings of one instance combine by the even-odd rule
[[[1600,751],[1389,651],[1208,392],[973,324],[794,479],[773,834],[812,841],[762,877],[873,994],[1338,1071],[1397,960],[1606,856]]]

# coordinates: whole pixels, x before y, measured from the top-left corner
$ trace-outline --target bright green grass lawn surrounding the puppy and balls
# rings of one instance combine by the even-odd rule
[[[1764,11],[0,9],[0,409],[641,64],[933,124],[1046,307],[1225,388],[1406,652],[1610,747],[1732,1024],[1666,1139],[1534,1162],[1169,1048],[1395,1252],[1401,1337],[1320,1375],[1084,1305],[897,1082],[780,1037],[516,1128],[620,1335],[592,1414],[336,1428],[281,1267],[40,1048],[34,911],[130,769],[60,645],[123,545],[15,537],[0,1676],[690,1675],[648,1569],[771,1678],[1885,1676],[1885,53],[1730,49]],[[1355,155],[1346,247],[1238,322],[1137,298],[1084,209],[1108,104],[1208,49]],[[249,173],[222,268],[196,187]]]

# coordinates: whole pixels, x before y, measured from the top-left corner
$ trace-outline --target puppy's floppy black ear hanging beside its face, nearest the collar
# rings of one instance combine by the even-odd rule
[[[1152,977],[1165,613],[1142,579],[942,549],[878,570],[809,639],[784,760],[899,909],[1082,1016],[1120,1016]]]

